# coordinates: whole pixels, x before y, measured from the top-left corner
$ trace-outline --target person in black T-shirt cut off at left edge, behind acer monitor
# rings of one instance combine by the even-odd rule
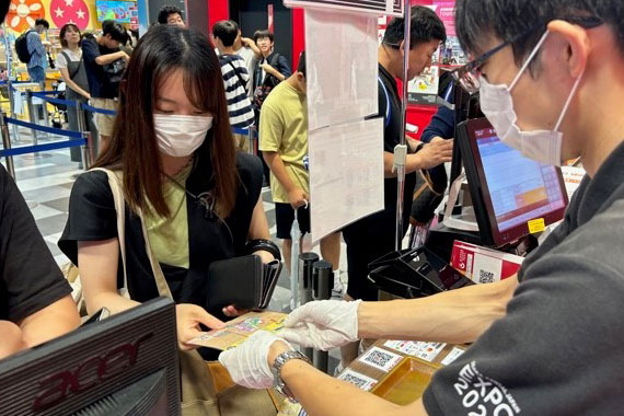
[[[80,324],[62,277],[22,194],[0,165],[0,358]]]

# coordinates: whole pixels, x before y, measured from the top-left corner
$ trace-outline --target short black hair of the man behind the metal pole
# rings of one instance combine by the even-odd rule
[[[447,41],[447,30],[435,11],[424,5],[412,8],[409,49],[431,41]],[[383,44],[397,49],[405,38],[405,19],[393,18],[383,35]]]

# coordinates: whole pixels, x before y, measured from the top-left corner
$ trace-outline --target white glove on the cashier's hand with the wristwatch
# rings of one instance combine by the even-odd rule
[[[221,353],[219,361],[236,384],[247,389],[269,389],[273,386],[273,373],[268,366],[268,350],[275,342],[288,345],[269,332],[258,331],[236,348]]]

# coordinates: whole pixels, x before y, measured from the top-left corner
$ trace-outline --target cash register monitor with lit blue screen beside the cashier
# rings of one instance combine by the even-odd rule
[[[550,226],[563,219],[568,199],[558,167],[506,146],[486,118],[460,124],[457,142],[485,245],[529,235],[532,220]]]

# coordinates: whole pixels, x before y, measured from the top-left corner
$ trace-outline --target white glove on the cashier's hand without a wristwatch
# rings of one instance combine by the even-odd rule
[[[358,337],[358,308],[361,300],[321,300],[305,303],[290,313],[280,332],[284,339],[326,351],[354,343]]]

